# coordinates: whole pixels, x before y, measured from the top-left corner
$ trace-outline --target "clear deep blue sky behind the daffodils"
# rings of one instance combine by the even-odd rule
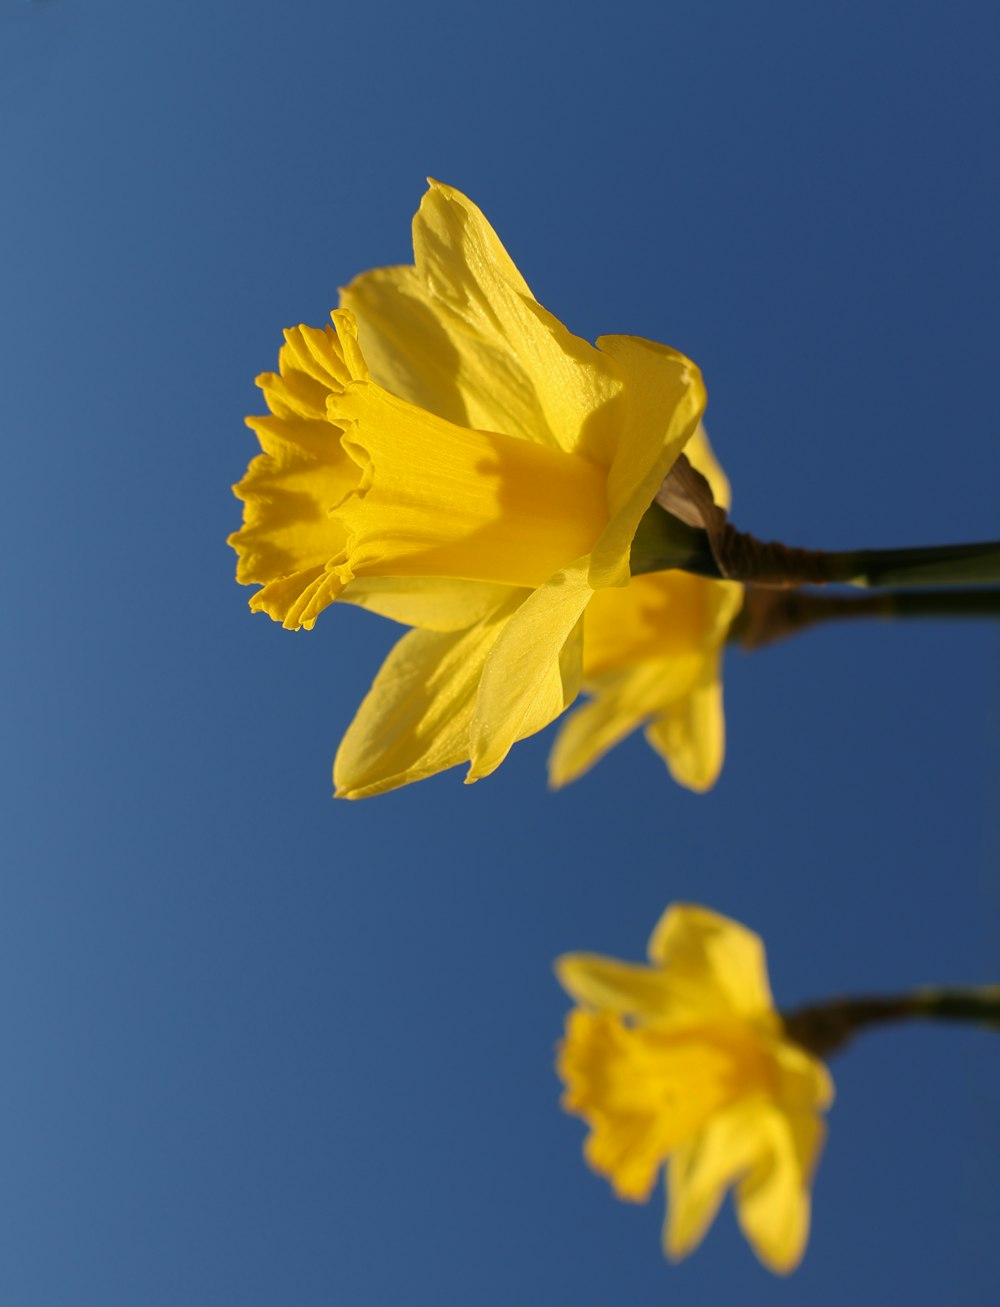
[[[837,1061],[791,1281],[728,1209],[671,1268],[558,1110],[550,975],[681,898],[788,1006],[996,980],[993,627],[731,654],[707,797],[642,740],[549,795],[546,735],[352,805],[396,629],[251,618],[224,538],[254,374],[426,174],[579,335],[701,363],[740,525],[1000,535],[997,13],[4,0],[3,1302],[993,1300],[995,1035]]]

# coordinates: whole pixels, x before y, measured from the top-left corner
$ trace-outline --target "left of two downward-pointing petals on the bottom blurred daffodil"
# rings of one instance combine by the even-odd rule
[[[758,1103],[737,1103],[715,1116],[667,1165],[663,1249],[671,1261],[694,1252],[735,1180],[766,1148]]]

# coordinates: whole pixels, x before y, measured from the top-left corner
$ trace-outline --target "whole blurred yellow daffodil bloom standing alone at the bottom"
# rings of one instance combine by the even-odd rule
[[[826,1067],[783,1031],[753,931],[675,904],[650,966],[591,954],[556,965],[580,1004],[566,1022],[563,1106],[618,1197],[643,1201],[667,1166],[668,1257],[701,1243],[732,1188],[766,1266],[790,1272],[809,1234],[812,1175],[833,1100]]]

